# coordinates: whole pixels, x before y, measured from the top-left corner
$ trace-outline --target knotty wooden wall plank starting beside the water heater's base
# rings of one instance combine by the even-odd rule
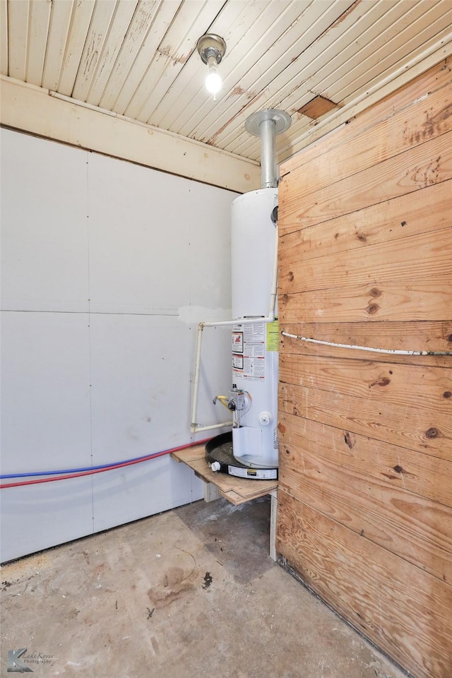
[[[452,508],[450,461],[280,412],[280,464],[304,450],[361,475]],[[287,453],[287,449],[289,453]],[[293,493],[292,493],[293,494]]]

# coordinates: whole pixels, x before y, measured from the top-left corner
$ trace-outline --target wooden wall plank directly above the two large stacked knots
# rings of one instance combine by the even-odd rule
[[[451,137],[452,142],[452,137]],[[444,288],[452,283],[452,225],[408,237],[396,246],[391,240],[352,249],[346,254],[300,260],[297,249],[281,253],[281,295],[325,290],[342,285],[372,283],[372,295],[380,297],[380,285],[412,285],[435,281]]]

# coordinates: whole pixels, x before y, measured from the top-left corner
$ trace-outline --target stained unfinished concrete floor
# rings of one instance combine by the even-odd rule
[[[20,648],[45,678],[405,675],[268,557],[269,515],[200,501],[4,566],[1,676]]]

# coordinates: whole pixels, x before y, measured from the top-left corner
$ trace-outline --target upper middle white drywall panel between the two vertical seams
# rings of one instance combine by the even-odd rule
[[[91,311],[176,315],[189,304],[192,184],[90,153]]]

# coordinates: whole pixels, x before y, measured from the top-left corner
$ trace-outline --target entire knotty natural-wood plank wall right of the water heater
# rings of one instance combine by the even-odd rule
[[[280,328],[452,352],[443,61],[286,162]],[[452,356],[282,338],[277,549],[417,678],[452,676]]]

